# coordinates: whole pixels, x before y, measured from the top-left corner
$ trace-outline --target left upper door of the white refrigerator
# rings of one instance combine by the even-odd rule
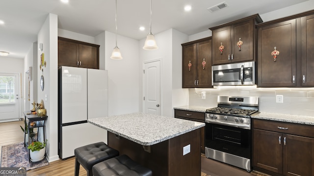
[[[87,68],[62,66],[62,124],[87,120]]]

